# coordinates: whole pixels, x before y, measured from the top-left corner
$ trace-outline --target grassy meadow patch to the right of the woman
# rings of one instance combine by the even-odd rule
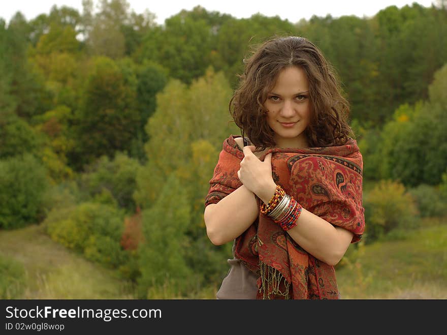
[[[375,242],[355,252],[350,247],[346,258],[353,260],[336,272],[342,297],[446,299],[446,220],[426,219],[422,226],[402,239]]]

